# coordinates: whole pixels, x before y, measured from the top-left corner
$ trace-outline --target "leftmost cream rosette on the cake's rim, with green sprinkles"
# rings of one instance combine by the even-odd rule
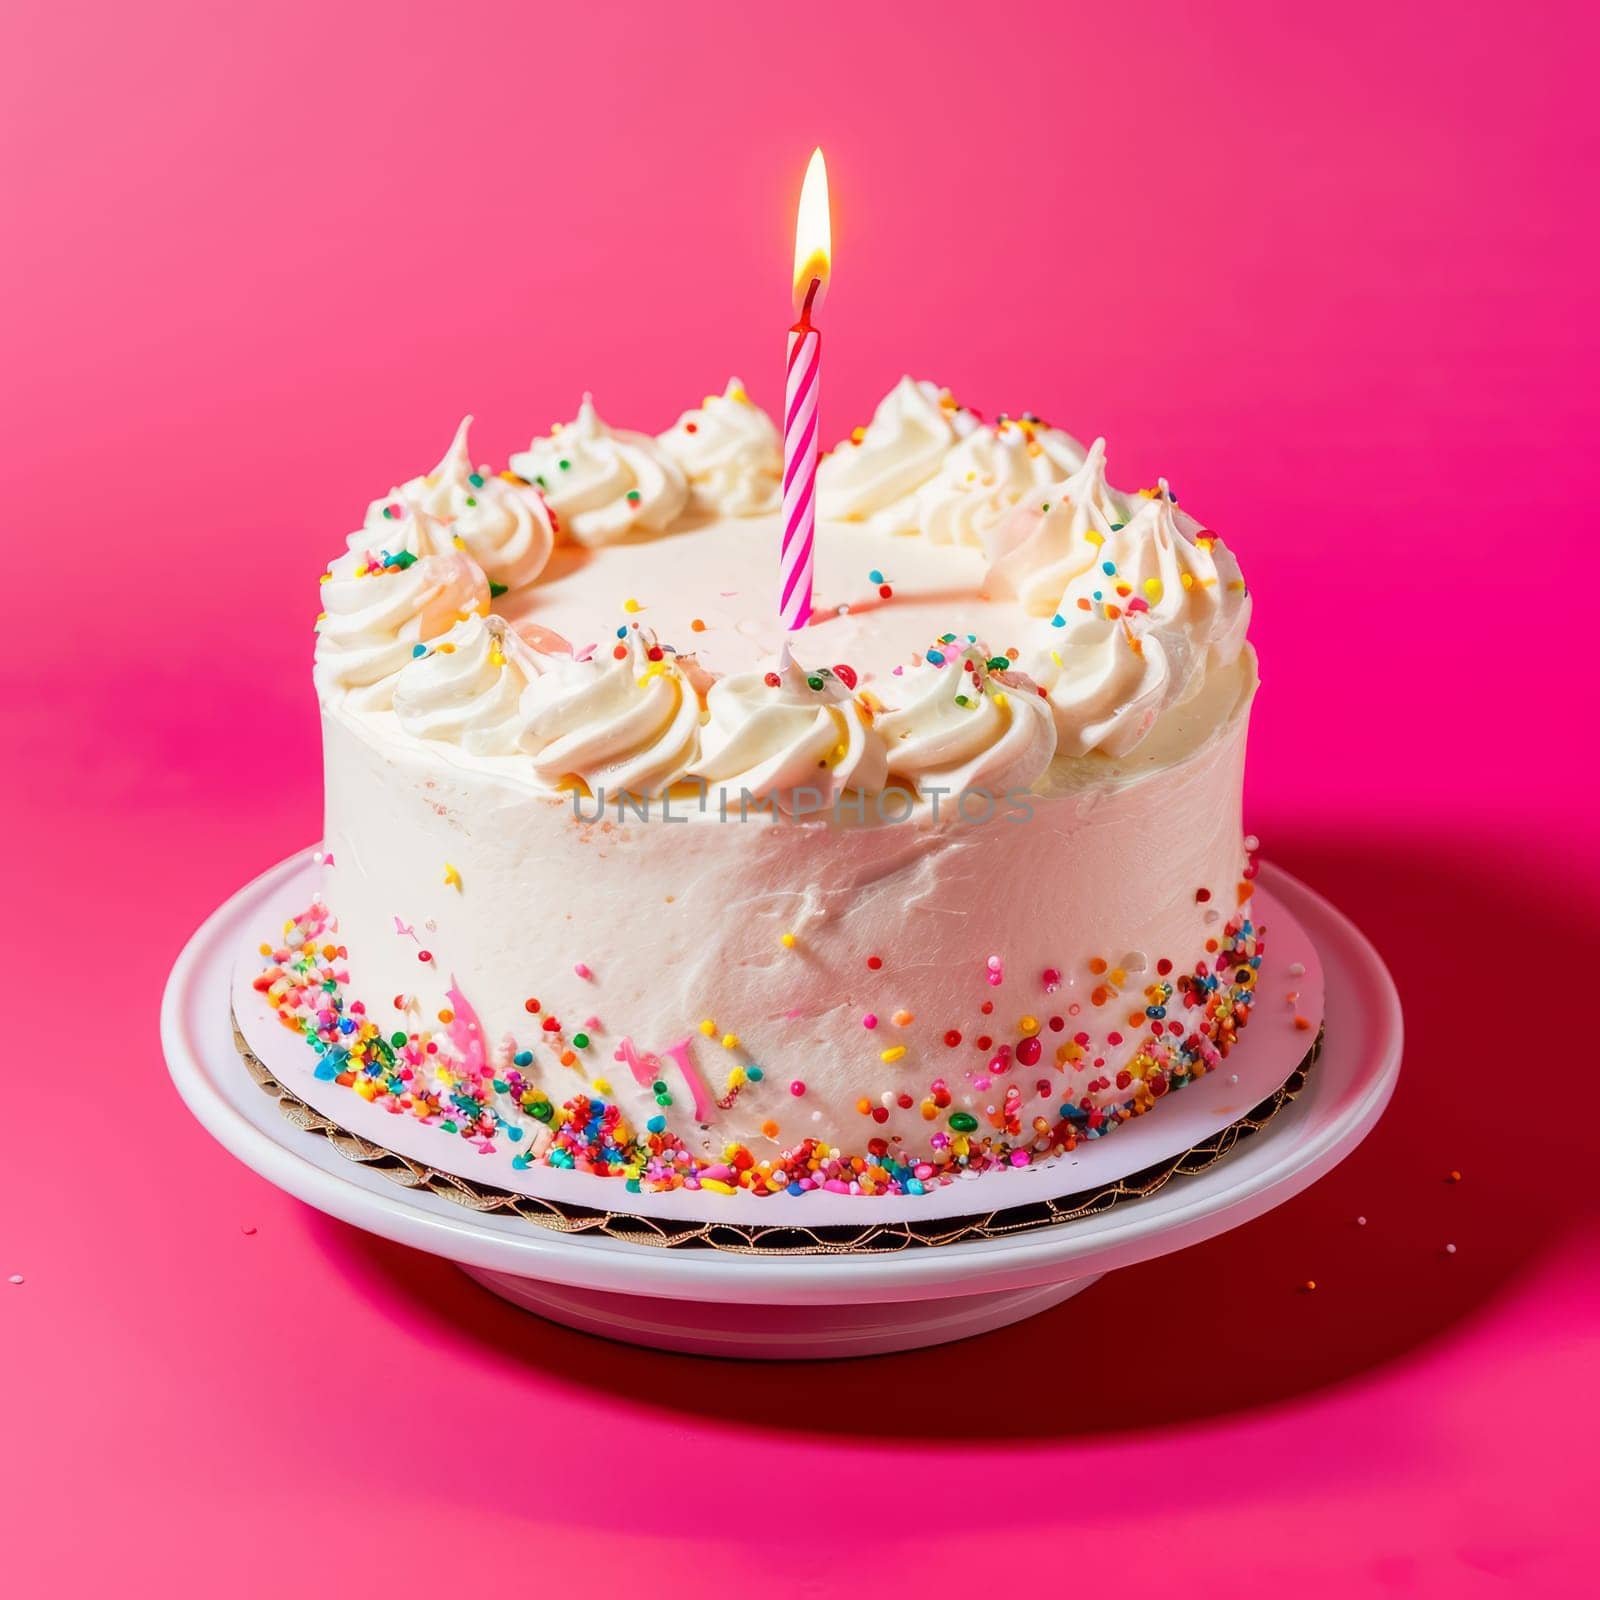
[[[350,550],[323,576],[317,672],[350,706],[382,710],[416,646],[490,606],[482,568],[411,507],[381,549]]]

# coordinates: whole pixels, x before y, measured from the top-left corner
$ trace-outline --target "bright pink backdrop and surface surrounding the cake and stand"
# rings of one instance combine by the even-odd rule
[[[1584,8],[539,10],[0,14],[0,1590],[1573,1590]],[[771,403],[816,141],[827,432],[910,370],[1171,475],[1256,592],[1251,824],[1411,1043],[1270,1218],[976,1344],[768,1371],[283,1198],[186,1115],[155,1010],[315,835],[315,574],[365,501],[466,408],[498,459],[586,386],[648,427],[730,371]]]

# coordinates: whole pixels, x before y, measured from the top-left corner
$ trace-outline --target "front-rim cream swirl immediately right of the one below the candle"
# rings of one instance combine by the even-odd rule
[[[883,693],[899,701],[877,723],[890,776],[923,795],[1029,789],[1056,754],[1038,685],[982,646],[936,646]]]

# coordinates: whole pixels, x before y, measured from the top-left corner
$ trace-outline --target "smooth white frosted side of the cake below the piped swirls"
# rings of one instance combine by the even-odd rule
[[[1179,981],[1216,965],[1248,894],[1246,666],[1181,758],[1064,771],[970,819],[723,821],[691,797],[597,816],[512,762],[440,762],[330,712],[349,992],[405,1032],[466,997],[544,1102],[602,1099],[698,1158],[1058,1147],[1062,1104],[1086,1120],[1165,1093],[1195,1022]]]

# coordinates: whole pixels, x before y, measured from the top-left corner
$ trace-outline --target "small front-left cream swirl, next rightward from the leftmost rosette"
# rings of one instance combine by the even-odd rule
[[[538,658],[504,618],[469,616],[400,669],[395,717],[418,739],[459,744],[472,755],[515,755],[518,704],[538,675]]]

